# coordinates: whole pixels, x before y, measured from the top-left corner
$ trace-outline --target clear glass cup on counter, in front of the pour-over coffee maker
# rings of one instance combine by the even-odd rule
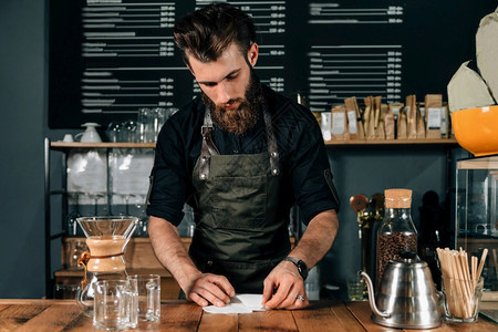
[[[137,325],[136,297],[126,280],[103,280],[94,284],[93,325],[107,331]]]

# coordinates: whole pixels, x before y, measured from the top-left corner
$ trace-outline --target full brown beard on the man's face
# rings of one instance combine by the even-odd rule
[[[259,120],[261,97],[261,84],[252,71],[245,97],[229,101],[240,103],[237,110],[226,111],[225,105],[216,105],[206,94],[201,95],[204,104],[211,111],[212,122],[221,129],[236,135],[243,135],[255,127]]]

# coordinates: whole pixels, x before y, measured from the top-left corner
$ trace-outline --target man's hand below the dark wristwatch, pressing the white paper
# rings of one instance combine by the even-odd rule
[[[298,268],[290,261],[281,261],[274,267],[264,279],[263,286],[261,305],[267,309],[301,309],[310,304],[304,281]]]

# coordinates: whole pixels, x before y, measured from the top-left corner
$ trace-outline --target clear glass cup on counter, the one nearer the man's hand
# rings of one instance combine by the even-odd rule
[[[155,322],[160,318],[160,276],[128,276],[132,291],[138,301],[138,321]]]

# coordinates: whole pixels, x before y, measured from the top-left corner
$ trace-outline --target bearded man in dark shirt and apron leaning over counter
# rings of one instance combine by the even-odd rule
[[[235,293],[262,293],[267,309],[309,305],[308,269],[331,248],[339,199],[311,112],[263,85],[249,15],[228,3],[197,10],[174,29],[201,96],[164,125],[147,214],[162,264],[185,297],[222,307]],[[194,209],[187,253],[176,227]],[[307,230],[291,250],[290,209]]]

